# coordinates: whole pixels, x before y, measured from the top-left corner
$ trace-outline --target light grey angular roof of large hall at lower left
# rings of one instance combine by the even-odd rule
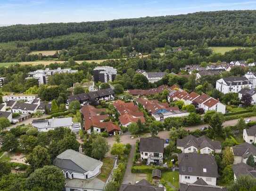
[[[60,153],[53,161],[53,164],[62,169],[85,173],[87,171],[93,171],[99,165],[102,165],[102,162],[68,149]]]

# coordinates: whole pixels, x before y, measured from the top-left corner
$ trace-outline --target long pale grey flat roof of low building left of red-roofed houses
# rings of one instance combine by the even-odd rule
[[[52,119],[46,119],[46,120],[33,120],[32,125],[37,129],[58,128],[58,127],[72,126],[73,122],[72,122],[72,117],[65,117],[65,118],[52,118]]]

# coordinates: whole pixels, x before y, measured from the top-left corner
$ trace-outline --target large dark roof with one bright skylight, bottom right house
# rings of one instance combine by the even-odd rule
[[[218,166],[212,154],[179,154],[180,175],[218,177]]]

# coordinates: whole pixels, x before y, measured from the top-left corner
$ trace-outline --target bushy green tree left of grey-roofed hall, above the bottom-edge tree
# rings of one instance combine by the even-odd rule
[[[30,164],[30,167],[35,170],[42,168],[45,165],[50,165],[50,154],[46,148],[38,145],[33,149],[33,152],[26,157],[26,162]]]

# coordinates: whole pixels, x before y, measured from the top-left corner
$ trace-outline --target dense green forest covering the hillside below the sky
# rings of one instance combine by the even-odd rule
[[[124,58],[180,46],[256,46],[256,11],[0,27],[1,62]],[[35,50],[61,51],[28,54]]]

